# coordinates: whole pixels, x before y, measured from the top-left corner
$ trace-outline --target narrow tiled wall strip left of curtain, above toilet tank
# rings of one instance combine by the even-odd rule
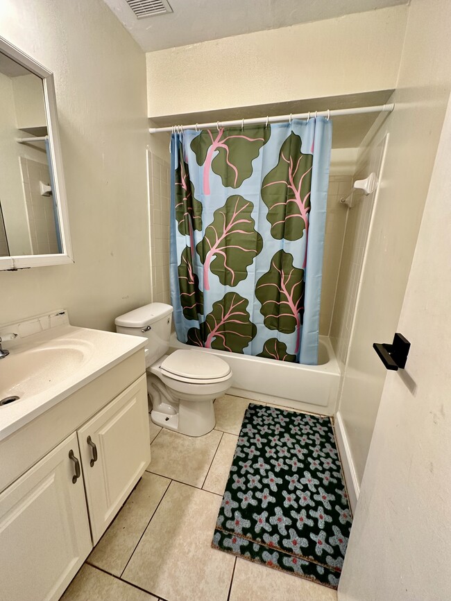
[[[153,302],[171,302],[169,291],[169,162],[149,153],[151,266]]]

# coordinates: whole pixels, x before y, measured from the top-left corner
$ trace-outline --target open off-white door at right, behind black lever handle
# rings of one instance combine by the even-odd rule
[[[450,599],[450,164],[451,103],[398,324],[409,358],[386,378],[339,601]]]

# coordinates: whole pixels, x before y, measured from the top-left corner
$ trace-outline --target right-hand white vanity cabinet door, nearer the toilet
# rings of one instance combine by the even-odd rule
[[[95,545],[151,460],[146,376],[80,428],[78,442]]]

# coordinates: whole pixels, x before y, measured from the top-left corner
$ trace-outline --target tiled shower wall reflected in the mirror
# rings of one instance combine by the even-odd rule
[[[53,197],[42,196],[39,182],[50,184],[49,166],[20,157],[33,254],[58,252]]]

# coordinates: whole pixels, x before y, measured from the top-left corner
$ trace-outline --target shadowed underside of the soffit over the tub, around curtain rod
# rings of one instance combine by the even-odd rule
[[[149,117],[149,127],[164,128],[171,125],[211,123],[232,119],[254,119],[262,116],[296,114],[327,109],[344,109],[384,105],[390,101],[393,89],[344,94],[327,98],[308,98],[300,101],[272,103],[252,107],[233,107],[215,111]],[[358,148],[380,113],[336,116],[333,120],[332,148]],[[155,136],[161,134],[153,134]]]

